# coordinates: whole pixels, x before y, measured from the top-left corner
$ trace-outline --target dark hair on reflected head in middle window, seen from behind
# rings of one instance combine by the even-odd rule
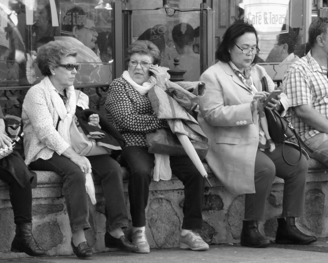
[[[180,23],[172,30],[172,39],[179,48],[191,44],[195,40],[195,32],[188,23]]]

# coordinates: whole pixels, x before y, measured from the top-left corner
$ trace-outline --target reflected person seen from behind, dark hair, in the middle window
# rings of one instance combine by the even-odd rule
[[[200,56],[193,51],[195,42],[194,29],[187,23],[180,23],[172,30],[172,38],[176,51],[179,54],[179,66],[186,70],[186,81],[198,81],[200,76]],[[174,68],[173,59],[170,61],[170,69]]]

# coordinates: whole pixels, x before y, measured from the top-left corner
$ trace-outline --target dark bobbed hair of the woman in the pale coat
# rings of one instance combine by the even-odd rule
[[[254,33],[256,36],[256,45],[258,44],[257,31],[252,24],[238,20],[227,28],[223,34],[223,40],[216,50],[215,57],[222,61],[228,63],[230,58],[230,53],[228,52],[235,45],[236,38],[242,36],[245,33]],[[255,55],[253,63],[255,64],[258,60],[258,54]]]

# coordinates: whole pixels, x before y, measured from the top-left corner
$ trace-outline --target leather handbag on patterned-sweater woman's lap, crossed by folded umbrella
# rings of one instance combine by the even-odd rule
[[[170,130],[169,127],[162,127],[155,131],[146,133],[148,152],[167,154],[171,156],[187,156],[178,137]],[[204,159],[209,145],[203,142],[190,140],[193,144],[200,159]]]

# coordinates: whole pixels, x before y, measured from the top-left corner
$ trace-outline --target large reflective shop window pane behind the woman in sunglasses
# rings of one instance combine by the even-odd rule
[[[24,3],[24,4],[23,4]],[[80,64],[74,85],[112,81],[112,10],[101,1],[0,0],[0,86],[31,86],[43,76],[35,58],[52,40],[74,43]]]

